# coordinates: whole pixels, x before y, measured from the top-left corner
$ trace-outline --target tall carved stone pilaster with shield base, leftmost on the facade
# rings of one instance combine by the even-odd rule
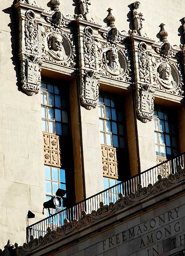
[[[41,26],[38,21],[40,15],[33,10],[27,10],[25,15],[20,15],[22,15],[19,18],[21,83],[23,91],[32,96],[39,92],[41,86]]]

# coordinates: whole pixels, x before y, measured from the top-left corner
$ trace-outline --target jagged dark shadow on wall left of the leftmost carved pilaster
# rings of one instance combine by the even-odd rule
[[[2,10],[4,13],[6,13],[7,15],[9,15],[10,18],[10,23],[8,23],[8,27],[10,28],[11,32],[11,47],[12,47],[12,64],[14,66],[14,70],[16,73],[16,78],[17,78],[17,88],[19,91],[21,90],[21,68],[20,68],[20,63],[19,63],[19,20],[17,18],[17,13],[14,7],[14,4],[16,3],[16,1],[13,2],[13,4]],[[7,70],[8,71],[8,70]]]

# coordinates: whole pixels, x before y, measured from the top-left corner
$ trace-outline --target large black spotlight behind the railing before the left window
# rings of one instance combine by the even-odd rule
[[[63,209],[62,201],[65,201],[63,196],[65,196],[66,191],[59,188],[57,192],[55,193],[56,196],[52,196],[52,198],[46,202],[43,203],[43,211],[42,214],[44,214],[44,208],[48,209],[49,215],[50,215],[50,208],[56,209],[56,211],[61,211]],[[62,200],[62,201],[61,201]],[[62,207],[61,207],[62,206]]]

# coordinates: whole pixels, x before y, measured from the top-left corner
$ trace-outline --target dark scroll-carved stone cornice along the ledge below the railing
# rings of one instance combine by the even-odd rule
[[[30,252],[39,249],[46,244],[57,241],[64,237],[65,235],[71,233],[74,230],[78,230],[88,224],[91,224],[97,220],[101,220],[108,215],[116,213],[134,203],[139,203],[144,199],[149,198],[152,195],[155,195],[163,190],[172,187],[174,184],[180,183],[185,180],[185,169],[182,169],[181,166],[178,166],[178,172],[170,174],[168,178],[163,178],[161,175],[158,175],[158,181],[151,185],[149,184],[147,187],[142,188],[141,184],[138,185],[138,190],[136,193],[131,193],[129,196],[124,196],[123,194],[119,194],[119,200],[116,203],[110,203],[109,205],[103,205],[100,203],[100,208],[97,211],[92,211],[90,214],[86,214],[86,212],[82,212],[82,218],[79,220],[74,220],[69,222],[67,219],[64,221],[64,225],[58,227],[56,231],[51,231],[50,228],[47,229],[47,233],[44,237],[39,237],[38,239],[34,239],[34,237],[30,237],[30,242],[24,243],[23,246],[18,246],[15,244],[11,245],[10,241],[4,247],[4,251],[0,252],[0,256],[11,256],[13,255],[11,251],[16,252],[17,256],[23,256],[29,254]]]

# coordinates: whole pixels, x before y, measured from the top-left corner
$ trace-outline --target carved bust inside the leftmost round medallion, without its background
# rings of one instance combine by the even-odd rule
[[[59,33],[52,33],[47,38],[49,55],[59,61],[64,61],[67,58],[63,47],[63,37]]]

